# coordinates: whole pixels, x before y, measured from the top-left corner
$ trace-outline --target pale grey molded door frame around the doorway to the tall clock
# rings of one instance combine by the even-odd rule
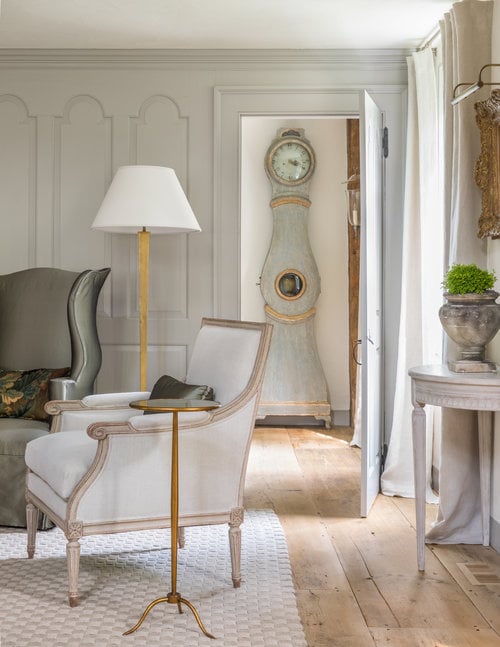
[[[390,257],[391,279],[400,276],[400,240],[402,223],[399,215],[402,210],[403,177],[398,158],[402,159],[405,85],[377,85],[367,88],[361,86],[215,86],[214,87],[214,314],[215,316],[240,317],[240,146],[241,118],[243,116],[338,116],[346,119],[359,117],[360,93],[366,89],[376,98],[384,113],[394,124],[396,146],[399,143],[400,155],[392,158],[391,174],[392,196],[389,213],[385,215],[384,230],[390,235],[385,237],[383,260],[386,264]],[[388,228],[387,218],[390,219]],[[399,223],[399,224],[398,224]],[[394,242],[394,239],[396,242]],[[395,253],[394,253],[395,252]],[[393,267],[392,256],[396,266]],[[235,272],[235,268],[238,268]],[[393,281],[394,283],[394,281]],[[399,294],[393,285],[384,286],[385,293]],[[396,299],[397,301],[397,299]],[[385,307],[384,307],[385,309]],[[399,301],[391,304],[391,311],[399,312]],[[397,317],[399,321],[399,318]],[[387,320],[386,320],[387,321]],[[392,324],[394,327],[395,324]],[[384,328],[384,337],[397,339],[393,329]],[[388,345],[384,345],[387,352]],[[394,351],[395,355],[395,351]],[[386,380],[393,377],[386,372]],[[394,362],[395,379],[395,362]],[[392,411],[391,393],[393,385],[384,383],[384,408]],[[391,417],[386,418],[390,429]]]

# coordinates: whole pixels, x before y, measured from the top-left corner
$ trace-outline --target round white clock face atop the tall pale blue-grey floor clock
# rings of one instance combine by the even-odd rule
[[[312,150],[297,139],[278,142],[268,154],[267,167],[278,182],[301,184],[314,170]]]

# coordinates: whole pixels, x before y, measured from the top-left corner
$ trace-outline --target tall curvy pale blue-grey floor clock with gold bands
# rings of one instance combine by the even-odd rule
[[[278,130],[265,158],[273,234],[260,289],[274,329],[258,418],[312,416],[328,427],[330,403],[314,334],[320,276],[307,228],[315,165],[303,129]]]

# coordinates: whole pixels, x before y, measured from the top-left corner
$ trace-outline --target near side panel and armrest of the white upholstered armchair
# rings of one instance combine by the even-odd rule
[[[255,406],[256,397],[222,420],[214,419],[213,412],[179,415],[183,516],[201,519],[205,511],[223,516],[242,505]],[[86,478],[68,501],[69,517],[96,523],[168,517],[171,429],[171,413],[137,416],[136,412],[128,421],[91,424],[87,434],[98,441],[97,451]]]

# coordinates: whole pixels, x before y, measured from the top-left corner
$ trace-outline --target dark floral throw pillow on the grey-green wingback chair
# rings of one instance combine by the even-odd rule
[[[49,382],[66,377],[69,368],[34,368],[12,371],[0,368],[0,418],[28,418],[46,422],[44,405],[49,399]]]

